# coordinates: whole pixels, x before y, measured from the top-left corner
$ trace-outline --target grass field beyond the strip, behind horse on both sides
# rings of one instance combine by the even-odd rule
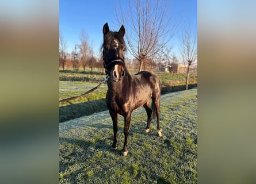
[[[85,93],[86,91],[97,86],[104,80],[105,74],[96,68],[90,74],[88,68],[85,74],[82,71],[73,72],[71,70],[60,70],[59,98],[64,99],[74,97]],[[166,75],[158,74],[162,81],[162,93],[180,91],[185,89],[185,77],[181,74]],[[190,89],[197,86],[197,77],[190,78]],[[93,91],[82,98],[71,100],[70,103],[64,102],[59,104],[59,122],[64,122],[85,115],[107,110],[105,104],[107,86],[104,84],[99,89]]]

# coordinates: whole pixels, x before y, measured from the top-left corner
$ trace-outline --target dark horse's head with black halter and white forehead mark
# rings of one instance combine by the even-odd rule
[[[125,75],[126,67],[124,63],[124,52],[126,45],[124,42],[125,29],[122,25],[119,32],[109,30],[108,23],[103,26],[104,43],[102,45],[102,56],[106,74],[114,82],[120,81]]]

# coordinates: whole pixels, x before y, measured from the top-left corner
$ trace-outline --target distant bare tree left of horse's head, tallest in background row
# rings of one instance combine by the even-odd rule
[[[79,52],[81,53],[81,62],[83,66],[83,72],[85,72],[87,61],[90,59],[90,56],[93,54],[93,51],[88,44],[88,36],[84,28],[82,29],[79,38],[80,38],[81,44],[79,44],[78,47],[79,47]]]

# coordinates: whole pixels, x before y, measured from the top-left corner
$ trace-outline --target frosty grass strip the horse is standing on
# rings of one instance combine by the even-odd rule
[[[59,183],[197,183],[197,89],[161,96],[163,137],[150,133],[144,108],[132,114],[128,156],[110,150],[112,120],[107,111],[59,125]]]

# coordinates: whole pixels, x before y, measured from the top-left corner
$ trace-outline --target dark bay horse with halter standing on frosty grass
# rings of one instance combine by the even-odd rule
[[[157,119],[158,136],[162,136],[159,122],[161,81],[158,76],[149,71],[142,71],[136,75],[129,74],[124,62],[126,45],[124,42],[125,29],[122,25],[119,32],[109,30],[108,23],[103,27],[104,43],[102,45],[103,60],[108,79],[106,105],[113,121],[114,141],[112,149],[117,150],[118,114],[124,117],[124,147],[122,155],[128,154],[128,136],[132,111],[143,106],[147,112],[146,132],[150,130],[151,120]],[[152,109],[150,106],[152,98]]]

